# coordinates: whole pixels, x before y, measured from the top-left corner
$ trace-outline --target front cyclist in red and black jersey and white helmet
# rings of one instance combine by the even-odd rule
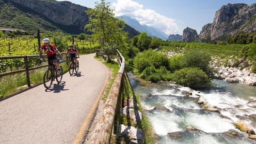
[[[48,64],[49,64],[49,60],[57,60],[57,57],[56,57],[56,53],[59,55],[60,57],[60,60],[59,62],[62,62],[62,55],[61,53],[59,52],[59,50],[56,48],[55,45],[53,44],[50,44],[50,41],[48,38],[44,38],[43,39],[43,45],[41,46],[40,48],[40,51],[39,51],[39,55],[40,55],[40,60],[43,61],[43,57],[42,57],[42,53],[43,51],[45,51],[47,57],[48,57]],[[60,68],[60,65],[57,61],[54,61],[54,65],[58,68]]]

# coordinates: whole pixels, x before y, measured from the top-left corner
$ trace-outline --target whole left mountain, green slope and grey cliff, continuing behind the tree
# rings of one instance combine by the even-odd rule
[[[0,27],[24,29],[30,33],[62,29],[70,34],[88,33],[89,8],[57,0],[0,0]],[[129,36],[139,34],[127,26]]]

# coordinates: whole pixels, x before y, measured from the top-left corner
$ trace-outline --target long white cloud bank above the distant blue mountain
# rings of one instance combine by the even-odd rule
[[[154,10],[144,9],[142,4],[132,0],[117,0],[112,3],[115,16],[128,15],[140,22],[141,25],[147,25],[160,29],[167,35],[182,34],[178,29],[176,20],[156,13]]]

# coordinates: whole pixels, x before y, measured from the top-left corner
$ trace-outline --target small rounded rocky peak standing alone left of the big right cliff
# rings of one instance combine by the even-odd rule
[[[192,42],[198,39],[198,34],[195,29],[186,28],[183,30],[182,42]]]

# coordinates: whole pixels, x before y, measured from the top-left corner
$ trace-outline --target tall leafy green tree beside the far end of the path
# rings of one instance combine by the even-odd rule
[[[95,2],[94,9],[89,9],[86,13],[90,16],[89,23],[85,25],[85,29],[92,32],[94,41],[103,39],[104,43],[116,43],[123,45],[125,35],[121,30],[125,23],[114,17],[113,10],[110,9],[110,2],[101,0],[100,3]]]

